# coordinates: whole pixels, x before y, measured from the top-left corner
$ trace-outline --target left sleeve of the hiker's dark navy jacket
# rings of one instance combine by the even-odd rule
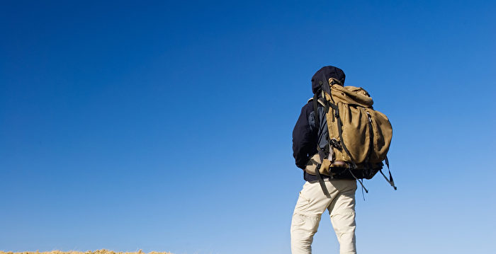
[[[300,117],[293,129],[293,157],[298,168],[305,169],[310,156],[317,152],[317,131],[310,101],[301,109]]]

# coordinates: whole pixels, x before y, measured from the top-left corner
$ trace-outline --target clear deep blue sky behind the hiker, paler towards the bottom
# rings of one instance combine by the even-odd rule
[[[494,1],[2,1],[0,250],[289,253],[325,65],[390,117],[360,253],[492,253]],[[315,253],[337,253],[327,215]]]

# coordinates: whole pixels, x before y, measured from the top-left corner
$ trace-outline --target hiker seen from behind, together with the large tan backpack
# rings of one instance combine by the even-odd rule
[[[312,77],[313,97],[303,106],[293,129],[293,157],[305,184],[291,220],[291,252],[312,253],[322,213],[329,212],[339,253],[356,253],[357,183],[388,166],[393,129],[363,88],[344,86],[344,71],[322,67]]]

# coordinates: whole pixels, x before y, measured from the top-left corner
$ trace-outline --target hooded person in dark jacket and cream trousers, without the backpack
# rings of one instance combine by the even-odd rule
[[[344,72],[337,67],[322,67],[312,77],[312,92],[317,93],[322,83],[337,79],[344,84]],[[322,191],[317,175],[305,171],[310,157],[317,154],[317,144],[325,148],[329,137],[324,107],[317,103],[319,118],[315,119],[314,103],[303,106],[293,129],[293,156],[298,168],[303,169],[305,184],[300,191],[291,221],[291,252],[312,253],[313,236],[317,232],[322,213],[327,209],[332,227],[339,241],[339,253],[356,253],[355,246],[355,191],[356,180],[330,179],[320,175],[329,195]],[[318,125],[320,126],[316,126]]]

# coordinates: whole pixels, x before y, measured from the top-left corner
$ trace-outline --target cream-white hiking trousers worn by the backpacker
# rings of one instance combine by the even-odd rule
[[[339,241],[339,253],[356,253],[355,191],[356,180],[324,181],[330,197],[326,197],[318,182],[303,185],[291,221],[291,253],[312,253],[313,236],[320,217],[327,209]]]

